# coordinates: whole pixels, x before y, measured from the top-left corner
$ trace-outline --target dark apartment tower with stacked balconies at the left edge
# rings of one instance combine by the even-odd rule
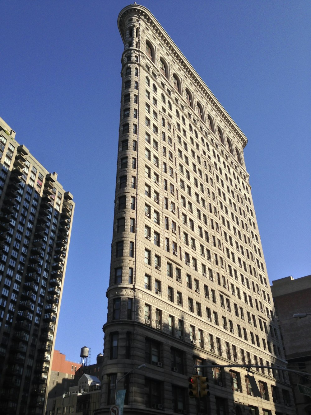
[[[1,118],[0,158],[0,413],[41,415],[75,204]]]

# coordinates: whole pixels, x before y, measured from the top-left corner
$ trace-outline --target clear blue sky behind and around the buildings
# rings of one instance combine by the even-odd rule
[[[125,1],[1,6],[0,116],[74,195],[56,349],[102,352]],[[143,2],[248,137],[244,156],[270,282],[310,270],[311,2]]]

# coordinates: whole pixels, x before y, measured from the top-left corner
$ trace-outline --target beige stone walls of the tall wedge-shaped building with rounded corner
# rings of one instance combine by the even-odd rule
[[[247,139],[148,10],[136,5],[125,8],[119,16],[119,29],[125,49],[121,58],[116,205],[107,290],[108,318],[104,325],[102,406],[107,408],[109,377],[105,375],[118,373],[121,377],[145,363],[146,338],[151,338],[160,345],[162,367],[146,362],[146,369],[134,371],[129,383],[129,405],[137,413],[157,413],[156,408],[145,407],[146,377],[162,382],[161,404],[165,413],[172,413],[172,388],[185,388],[184,393],[188,395],[187,377],[192,374],[194,358],[220,365],[242,364],[242,349],[245,357],[249,353],[252,364],[257,359],[258,364],[285,366],[285,361],[277,323],[275,319],[272,321],[272,295],[243,159]],[[151,55],[146,51],[146,42]],[[161,70],[160,59],[166,75]],[[128,68],[131,68],[130,73]],[[179,92],[174,78],[179,83]],[[124,132],[127,123],[129,132],[127,129]],[[128,148],[124,149],[126,140]],[[135,166],[132,166],[133,158]],[[120,188],[124,176],[126,186]],[[132,177],[135,186],[131,186]],[[126,196],[125,209],[119,207],[121,196]],[[131,209],[131,197],[135,198],[135,209]],[[118,228],[121,218],[125,218],[124,229],[123,225]],[[131,219],[135,220],[133,229],[130,229]],[[159,246],[154,243],[155,232],[160,238]],[[117,256],[117,244],[122,241],[123,255]],[[146,249],[149,264],[146,263]],[[185,254],[189,254],[189,264]],[[156,267],[155,256],[160,257],[160,269]],[[168,264],[172,266],[171,276]],[[120,267],[122,279],[118,281],[115,269]],[[131,283],[129,268],[133,269]],[[176,268],[180,270],[178,274]],[[150,276],[147,286],[145,274]],[[191,286],[187,274],[191,276]],[[161,295],[157,292],[159,283]],[[168,288],[173,289],[173,300],[169,298]],[[177,292],[182,295],[180,305]],[[116,318],[113,308],[119,298],[120,313]],[[193,302],[193,310],[188,306],[188,298]],[[129,299],[133,301],[130,315]],[[146,305],[150,306],[150,318],[145,315]],[[210,321],[206,308],[211,310]],[[158,310],[160,322],[157,321]],[[213,320],[214,312],[218,315],[218,324]],[[169,330],[169,316],[175,319],[173,333]],[[223,321],[223,317],[226,320]],[[178,320],[184,322],[185,332],[181,337]],[[195,330],[192,338],[191,326]],[[241,336],[238,326],[241,326]],[[199,330],[203,335],[201,344]],[[127,359],[126,332],[131,333]],[[118,360],[110,359],[111,333],[119,334]],[[214,338],[213,348],[209,345],[209,335]],[[220,339],[221,352],[216,350],[216,338]],[[183,373],[172,368],[171,348],[183,352]],[[247,372],[236,370],[241,376],[240,392],[233,391],[228,369],[222,375],[222,386],[213,383],[211,369],[206,371],[211,383],[207,403],[211,413],[215,413],[216,397],[219,397],[228,399],[227,410],[243,403],[247,408],[248,405],[258,407],[260,413],[266,409],[274,414],[272,385],[279,388],[280,404],[276,405],[281,406],[276,410],[282,412],[281,390],[290,391],[286,372],[284,376],[275,374],[274,377],[272,371],[254,369],[256,380],[267,385],[270,400],[265,400],[248,394],[244,381]],[[187,396],[180,411],[194,413],[194,401]],[[202,413],[206,411],[206,408],[201,410]],[[294,410],[287,408],[287,413],[294,413]]]

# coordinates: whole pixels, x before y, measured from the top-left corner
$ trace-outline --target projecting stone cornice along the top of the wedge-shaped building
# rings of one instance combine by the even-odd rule
[[[204,83],[202,78],[195,71],[191,63],[186,59],[186,57],[182,54],[180,49],[176,46],[173,40],[165,32],[158,20],[156,20],[153,14],[146,7],[136,4],[129,5],[124,7],[124,9],[122,9],[119,13],[118,27],[123,42],[125,41],[124,20],[129,14],[138,15],[139,17],[143,18],[146,22],[148,22],[148,25],[157,34],[157,36],[160,38],[163,44],[165,44],[170,53],[175,57],[176,61],[180,64],[180,66],[182,66],[187,75],[192,79],[192,82],[197,86],[197,88],[199,88],[200,92],[205,96],[206,100],[209,101],[209,103],[214,107],[214,109],[218,112],[221,118],[227,123],[228,126],[231,127],[232,131],[241,140],[242,146],[244,148],[248,142],[245,134],[241,131],[236,122],[233,121],[228,112],[224,109],[221,103],[219,103],[217,98],[208,88],[206,83]]]

